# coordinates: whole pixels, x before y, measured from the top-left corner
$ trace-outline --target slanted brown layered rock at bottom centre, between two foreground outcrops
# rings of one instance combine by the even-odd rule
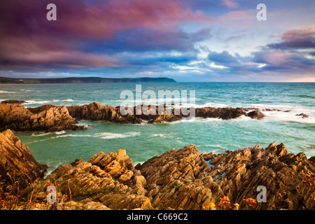
[[[136,169],[146,178],[146,196],[157,209],[202,209],[223,196],[218,184],[207,174],[207,163],[193,145],[155,156]]]

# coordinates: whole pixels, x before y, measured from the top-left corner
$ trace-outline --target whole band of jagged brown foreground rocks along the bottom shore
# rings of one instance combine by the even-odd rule
[[[315,209],[314,157],[288,153],[283,144],[222,154],[200,153],[192,144],[135,167],[120,149],[65,163],[39,180],[46,166],[10,130],[0,134],[0,146],[1,187],[18,181],[26,188],[21,197],[32,190],[38,209],[48,209],[50,185],[57,188],[50,209],[202,209],[209,204],[223,209],[223,202],[230,204],[225,209],[234,204],[238,209]],[[27,188],[34,180],[38,187]],[[266,190],[265,202],[255,201],[259,186]],[[249,202],[255,205],[248,207]]]

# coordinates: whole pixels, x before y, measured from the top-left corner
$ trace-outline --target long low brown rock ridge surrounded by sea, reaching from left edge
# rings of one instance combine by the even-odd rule
[[[111,123],[140,124],[174,122],[184,116],[183,109],[170,108],[167,105],[138,105],[126,108],[130,113],[122,113],[120,106],[105,106],[97,102],[83,106],[55,106],[45,104],[35,108],[25,108],[20,101],[6,101],[0,104],[0,131],[46,131],[85,130],[87,127],[75,125],[77,120],[104,120]],[[255,109],[246,114],[247,109],[211,108],[195,109],[195,116],[200,118],[221,118],[223,120],[250,116],[261,119],[264,115]]]

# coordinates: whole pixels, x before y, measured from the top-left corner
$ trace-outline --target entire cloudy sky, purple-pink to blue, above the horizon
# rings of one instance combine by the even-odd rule
[[[0,3],[2,77],[315,82],[314,0]]]

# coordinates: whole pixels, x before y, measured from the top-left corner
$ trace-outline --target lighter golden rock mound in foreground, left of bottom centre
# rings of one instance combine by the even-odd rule
[[[58,167],[46,180],[58,183],[59,191],[72,198],[90,198],[110,209],[153,209],[146,195],[146,179],[134,168],[125,150],[97,153]]]

